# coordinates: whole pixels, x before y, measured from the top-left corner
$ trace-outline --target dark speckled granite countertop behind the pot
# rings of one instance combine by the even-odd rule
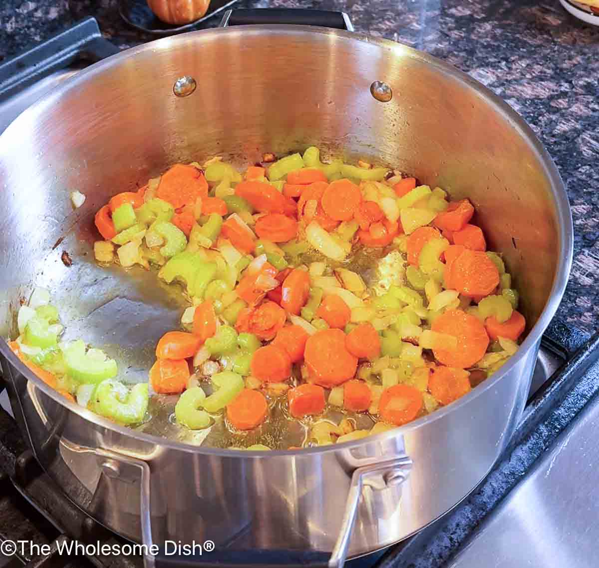
[[[86,16],[123,49],[153,37],[116,0],[5,0],[0,58]],[[432,53],[484,83],[533,127],[555,160],[574,216],[574,262],[558,316],[586,331],[599,316],[599,28],[558,0],[241,0],[240,7],[343,10],[356,31]],[[205,27],[217,25],[218,17]]]

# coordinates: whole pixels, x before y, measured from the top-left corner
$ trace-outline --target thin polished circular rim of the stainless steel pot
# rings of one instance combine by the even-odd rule
[[[36,113],[43,113],[46,108],[52,106],[52,101],[56,98],[59,98],[64,92],[67,92],[71,89],[77,88],[77,85],[83,81],[86,81],[88,77],[92,77],[93,75],[100,74],[104,72],[107,68],[110,68],[112,65],[116,64],[117,61],[123,62],[126,59],[134,58],[140,53],[144,52],[152,52],[154,50],[162,50],[162,49],[170,49],[177,44],[183,44],[187,41],[194,39],[196,41],[201,38],[201,41],[217,41],[217,39],[223,34],[232,34],[232,35],[247,35],[247,34],[255,34],[255,35],[287,35],[287,34],[310,34],[310,35],[326,35],[329,37],[338,37],[343,38],[343,40],[356,41],[361,43],[367,43],[369,45],[374,45],[380,47],[386,52],[391,52],[387,56],[403,56],[414,59],[419,59],[420,61],[425,62],[431,67],[437,68],[440,72],[443,72],[449,77],[453,78],[453,80],[459,81],[467,87],[473,89],[477,95],[485,99],[485,101],[494,108],[494,110],[504,117],[504,119],[508,120],[513,128],[518,131],[524,140],[526,140],[531,148],[536,152],[537,159],[539,159],[540,164],[543,166],[544,173],[549,179],[551,186],[551,194],[555,201],[557,213],[558,213],[558,238],[559,238],[559,263],[553,277],[553,284],[551,288],[551,292],[549,298],[547,299],[547,303],[544,306],[543,312],[539,319],[534,324],[533,328],[528,333],[528,336],[525,338],[524,342],[519,346],[518,351],[515,355],[513,355],[509,361],[504,364],[500,370],[496,371],[489,379],[486,379],[480,385],[477,385],[474,389],[472,389],[468,394],[459,398],[459,400],[441,407],[435,412],[422,416],[421,418],[410,422],[401,427],[394,428],[393,430],[389,430],[386,432],[382,432],[380,434],[375,434],[374,436],[368,436],[367,438],[360,440],[353,440],[350,442],[344,442],[341,444],[333,444],[329,446],[317,446],[315,448],[304,448],[301,450],[237,450],[237,449],[222,449],[222,448],[204,448],[203,446],[197,446],[190,443],[185,442],[176,442],[174,440],[162,438],[159,436],[154,436],[153,434],[146,434],[143,432],[138,432],[132,430],[132,428],[128,428],[125,426],[121,426],[116,424],[115,422],[110,421],[107,418],[96,415],[90,410],[84,409],[79,406],[77,403],[72,403],[71,401],[66,400],[65,397],[60,395],[55,389],[46,385],[43,380],[39,379],[25,364],[23,364],[20,359],[11,351],[8,347],[6,340],[0,342],[0,352],[4,357],[10,362],[13,367],[16,367],[20,373],[22,373],[28,380],[32,381],[37,388],[41,389],[46,395],[50,398],[65,406],[71,412],[76,413],[81,416],[81,418],[86,419],[89,422],[92,422],[95,425],[98,425],[103,428],[107,428],[108,430],[112,430],[118,434],[123,436],[129,436],[134,439],[140,440],[141,442],[151,443],[153,445],[162,446],[169,449],[197,453],[197,454],[207,454],[207,455],[215,455],[219,457],[229,457],[229,458],[261,458],[261,457],[276,457],[276,456],[286,456],[286,455],[316,455],[321,454],[323,452],[335,452],[338,450],[355,448],[357,446],[361,446],[365,443],[371,442],[381,442],[383,440],[392,439],[395,437],[403,436],[403,434],[409,433],[412,430],[416,430],[423,425],[430,424],[438,419],[443,418],[450,412],[457,411],[460,407],[465,406],[465,404],[470,403],[470,401],[479,397],[483,392],[485,392],[489,388],[493,388],[495,383],[503,379],[504,376],[509,374],[513,369],[515,369],[516,365],[524,358],[525,355],[531,349],[536,349],[536,346],[540,342],[541,335],[544,330],[549,325],[550,320],[555,315],[557,307],[562,300],[562,296],[565,291],[565,286],[568,282],[568,276],[570,274],[570,267],[572,263],[573,256],[573,223],[571,217],[570,203],[568,202],[568,197],[565,191],[564,183],[559,176],[558,170],[553,163],[552,158],[550,157],[547,150],[544,148],[543,144],[541,144],[539,138],[534,134],[533,130],[528,126],[525,120],[513,110],[507,102],[503,101],[499,96],[495,95],[490,89],[485,87],[482,83],[475,80],[470,75],[467,75],[465,72],[459,71],[457,68],[453,67],[450,64],[447,64],[441,59],[435,58],[428,53],[421,52],[420,50],[413,49],[412,47],[405,46],[404,44],[397,43],[391,40],[385,40],[382,38],[373,38],[366,34],[360,34],[356,32],[347,32],[340,31],[337,29],[331,28],[317,28],[314,26],[295,26],[295,25],[252,25],[252,26],[235,26],[232,28],[214,28],[202,31],[194,31],[188,32],[186,34],[180,34],[174,37],[161,38],[159,40],[150,41],[149,43],[142,44],[141,46],[132,47],[131,49],[125,50],[124,52],[117,53],[116,55],[110,56],[107,59],[104,59],[101,62],[90,65],[85,70],[78,72],[74,77],[69,78],[64,81],[64,83],[55,87],[50,93],[44,95],[41,99],[34,102],[31,107],[27,108],[23,111],[22,114],[15,119],[11,126],[7,128],[5,132],[10,132],[14,128],[18,128],[18,123],[20,120],[31,120],[34,118]],[[23,115],[25,115],[25,119],[23,119]],[[17,123],[17,126],[13,125]],[[11,128],[12,127],[12,128]],[[0,139],[2,136],[0,136]],[[3,338],[4,339],[4,338]],[[125,450],[122,451],[123,454],[127,452]]]

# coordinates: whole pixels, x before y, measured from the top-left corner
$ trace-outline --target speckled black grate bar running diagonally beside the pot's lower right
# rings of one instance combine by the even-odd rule
[[[569,337],[571,349],[582,335]],[[599,393],[599,333],[582,343],[525,409],[512,441],[479,486],[452,511],[407,543],[389,549],[373,568],[441,568],[480,522],[527,475],[537,458]],[[588,371],[591,372],[588,372]]]

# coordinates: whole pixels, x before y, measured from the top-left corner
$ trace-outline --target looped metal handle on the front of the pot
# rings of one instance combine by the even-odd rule
[[[194,566],[196,568],[268,568],[286,566],[288,568],[343,568],[349,550],[353,525],[358,515],[358,506],[362,496],[362,488],[368,486],[373,490],[383,490],[403,484],[412,470],[412,460],[407,455],[394,460],[371,463],[353,470],[352,482],[347,494],[346,508],[341,522],[341,529],[335,546],[329,555],[320,551],[297,550],[262,550],[230,548],[217,549],[214,543],[204,541],[201,550],[192,555],[159,554],[160,548],[152,537],[152,518],[150,516],[150,466],[146,461],[129,457],[117,452],[96,449],[96,455],[104,458],[102,469],[114,475],[118,472],[118,464],[128,464],[140,470],[140,519],[141,538],[144,544],[145,568],[167,568],[169,566]],[[208,549],[206,543],[211,543]]]

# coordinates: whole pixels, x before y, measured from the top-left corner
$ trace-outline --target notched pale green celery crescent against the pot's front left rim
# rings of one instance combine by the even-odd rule
[[[147,383],[133,385],[129,391],[118,380],[103,380],[93,393],[93,409],[121,424],[136,424],[146,415],[148,398]]]

